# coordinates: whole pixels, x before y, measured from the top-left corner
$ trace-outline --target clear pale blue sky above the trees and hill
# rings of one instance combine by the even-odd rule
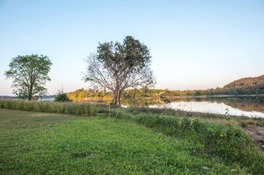
[[[47,55],[49,94],[88,89],[84,59],[131,35],[147,45],[157,89],[222,87],[264,74],[264,1],[0,0],[0,95],[17,55]]]

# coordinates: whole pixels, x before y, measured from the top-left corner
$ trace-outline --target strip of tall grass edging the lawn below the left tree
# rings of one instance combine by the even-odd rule
[[[47,113],[67,113],[83,116],[94,116],[97,108],[87,103],[40,102],[28,100],[0,100],[1,109],[35,111]]]

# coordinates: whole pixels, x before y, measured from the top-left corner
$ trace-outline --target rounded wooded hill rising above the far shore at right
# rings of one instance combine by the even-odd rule
[[[258,77],[244,77],[224,86],[224,89],[257,89],[264,87],[264,75]]]

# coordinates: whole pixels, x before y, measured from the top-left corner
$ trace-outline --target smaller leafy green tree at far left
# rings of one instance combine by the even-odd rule
[[[17,56],[9,64],[6,78],[13,79],[13,93],[19,98],[32,100],[47,93],[44,87],[51,79],[48,76],[52,63],[47,56]]]

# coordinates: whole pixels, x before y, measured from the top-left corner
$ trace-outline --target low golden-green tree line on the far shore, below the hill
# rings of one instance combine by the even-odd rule
[[[140,89],[127,89],[122,93],[122,100],[129,99],[142,99],[148,98],[165,100],[167,96],[202,96],[202,95],[261,95],[264,94],[263,88],[256,89],[207,89],[207,90],[185,90],[185,91],[170,91],[168,89],[149,89],[147,87],[142,87]],[[98,91],[94,89],[78,89],[74,92],[67,93],[67,97],[72,101],[83,101],[87,100],[109,100],[113,98],[113,93],[108,91]]]

